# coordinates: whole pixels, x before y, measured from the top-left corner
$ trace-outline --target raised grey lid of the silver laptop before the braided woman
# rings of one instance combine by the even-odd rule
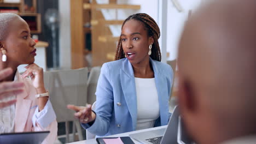
[[[178,122],[179,122],[179,107],[174,107],[173,113],[168,122],[168,126],[165,130],[164,136],[162,136],[161,143],[177,143],[178,133]]]

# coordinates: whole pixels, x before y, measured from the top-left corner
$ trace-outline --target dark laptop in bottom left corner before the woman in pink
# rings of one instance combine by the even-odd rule
[[[0,143],[4,144],[41,144],[50,131],[0,134]]]

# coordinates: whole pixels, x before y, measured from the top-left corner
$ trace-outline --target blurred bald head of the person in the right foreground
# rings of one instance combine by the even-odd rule
[[[181,111],[189,129],[205,120],[204,139],[211,137],[203,134],[206,128],[228,131],[213,134],[222,140],[256,133],[255,7],[253,0],[214,1],[184,27],[178,54]]]

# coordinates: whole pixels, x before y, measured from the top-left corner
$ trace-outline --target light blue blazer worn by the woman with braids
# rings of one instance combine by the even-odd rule
[[[154,127],[166,125],[170,117],[170,98],[173,71],[170,65],[150,58],[158,91],[160,117]],[[136,130],[137,98],[135,76],[127,58],[104,63],[96,89],[96,119],[94,124],[82,124],[90,133],[108,136]],[[150,96],[150,95],[149,95]],[[145,101],[147,103],[147,101]]]

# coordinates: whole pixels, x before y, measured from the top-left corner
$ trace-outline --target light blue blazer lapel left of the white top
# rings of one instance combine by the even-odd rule
[[[128,59],[123,62],[123,68],[120,70],[120,79],[125,101],[131,114],[132,127],[135,130],[137,124],[137,97],[133,69]]]

